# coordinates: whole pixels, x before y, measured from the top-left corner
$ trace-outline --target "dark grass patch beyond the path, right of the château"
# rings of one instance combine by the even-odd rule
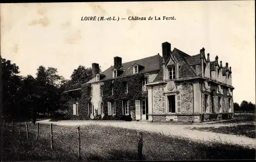
[[[243,135],[250,138],[255,138],[255,114],[253,113],[234,114],[234,118],[232,120],[220,121],[214,124],[216,125],[218,123],[230,125],[218,127],[194,127],[192,130]]]

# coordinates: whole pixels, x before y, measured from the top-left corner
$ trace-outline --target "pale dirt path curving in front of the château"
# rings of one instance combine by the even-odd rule
[[[58,121],[58,122],[49,122],[49,120],[37,121],[38,123],[54,125],[63,125],[63,126],[74,126],[74,125],[90,125],[98,124],[102,126],[114,126],[122,128],[130,128],[137,130],[153,131],[153,132],[162,132],[165,135],[178,135],[191,138],[191,140],[200,140],[200,141],[212,141],[217,140],[221,142],[228,142],[232,144],[247,145],[256,148],[255,138],[249,138],[245,136],[237,136],[232,134],[223,134],[223,133],[213,133],[213,132],[203,132],[198,130],[190,130],[187,128],[193,127],[206,127],[208,125],[172,125],[172,124],[156,124],[156,123],[147,123],[147,122],[117,122],[117,121]],[[214,126],[214,125],[210,125]]]

